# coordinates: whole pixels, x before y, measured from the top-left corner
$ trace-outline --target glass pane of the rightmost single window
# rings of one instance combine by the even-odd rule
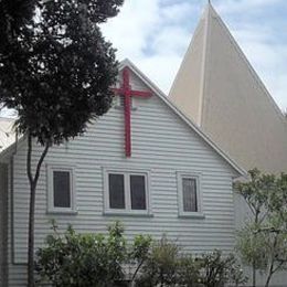
[[[191,178],[182,179],[182,195],[183,195],[183,211],[196,212],[198,198],[196,198],[196,180]]]

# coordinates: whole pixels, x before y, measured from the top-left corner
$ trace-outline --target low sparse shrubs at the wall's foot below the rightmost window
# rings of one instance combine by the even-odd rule
[[[177,244],[163,236],[152,245],[136,286],[222,287],[227,283],[246,283],[233,254],[223,256],[215,249],[196,257],[183,255]]]

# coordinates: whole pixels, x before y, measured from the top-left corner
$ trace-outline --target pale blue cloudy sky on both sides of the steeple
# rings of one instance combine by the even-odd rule
[[[103,32],[168,93],[208,0],[126,0]],[[287,109],[287,1],[213,0],[275,102]]]

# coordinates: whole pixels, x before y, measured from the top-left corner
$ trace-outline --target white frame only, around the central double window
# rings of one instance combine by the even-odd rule
[[[109,169],[103,168],[104,177],[104,214],[106,215],[134,215],[147,216],[151,214],[150,202],[150,172],[147,170],[130,170],[130,169]],[[109,208],[109,174],[124,174],[124,192],[125,192],[125,209]],[[146,185],[146,210],[132,210],[130,199],[130,176],[144,176]]]

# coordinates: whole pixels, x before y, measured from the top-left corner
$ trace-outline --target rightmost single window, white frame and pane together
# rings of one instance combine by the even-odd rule
[[[200,176],[178,173],[179,215],[202,216]]]

